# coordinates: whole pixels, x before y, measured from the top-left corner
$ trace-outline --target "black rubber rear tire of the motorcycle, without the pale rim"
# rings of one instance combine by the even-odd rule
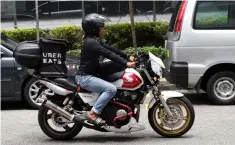
[[[52,113],[48,114],[49,111],[51,111]],[[64,127],[62,127],[65,130],[64,132],[55,130],[54,128],[51,127],[48,120],[50,119],[50,117],[51,117],[51,120],[53,120],[52,117],[57,118],[56,116],[59,117],[59,115],[53,112],[52,110],[46,108],[43,105],[40,106],[39,112],[38,112],[39,126],[48,137],[55,139],[55,140],[71,140],[82,130],[83,126],[74,122],[73,122],[74,125],[72,127],[70,127],[68,124],[67,125],[64,124]],[[55,123],[55,119],[52,122]]]

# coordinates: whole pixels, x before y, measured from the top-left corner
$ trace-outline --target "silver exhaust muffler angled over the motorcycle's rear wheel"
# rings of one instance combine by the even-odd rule
[[[59,107],[56,104],[52,103],[51,101],[45,100],[42,105],[44,105],[47,108],[51,109],[52,111],[60,114],[64,118],[68,119],[69,121],[73,121],[73,119],[74,119],[74,115],[72,115],[69,112],[65,111],[61,107]]]

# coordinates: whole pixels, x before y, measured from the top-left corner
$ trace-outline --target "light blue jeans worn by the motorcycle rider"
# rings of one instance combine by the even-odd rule
[[[101,94],[92,107],[92,111],[96,114],[101,114],[104,107],[117,92],[117,88],[113,84],[91,75],[77,75],[75,80],[81,88]]]

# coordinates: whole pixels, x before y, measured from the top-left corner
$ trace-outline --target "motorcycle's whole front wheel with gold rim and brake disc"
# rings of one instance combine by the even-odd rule
[[[148,111],[148,119],[155,132],[164,137],[180,137],[187,133],[195,120],[195,112],[191,102],[183,98],[170,98],[167,105],[173,118],[167,115],[161,102],[156,102]]]

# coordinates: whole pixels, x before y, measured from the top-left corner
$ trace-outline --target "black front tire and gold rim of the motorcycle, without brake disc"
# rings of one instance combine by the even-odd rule
[[[164,137],[168,137],[168,138],[173,138],[173,137],[180,137],[182,135],[184,135],[185,133],[187,133],[191,127],[193,126],[193,123],[194,123],[194,120],[195,120],[195,112],[194,112],[194,108],[193,108],[193,105],[191,104],[191,102],[183,97],[183,98],[170,98],[167,100],[167,104],[168,104],[168,101],[175,101],[177,103],[181,103],[184,107],[186,107],[186,110],[187,110],[187,113],[188,113],[188,120],[186,121],[186,125],[184,124],[184,126],[182,127],[182,129],[178,129],[178,130],[166,130],[164,129],[163,127],[161,127],[158,123],[157,123],[157,120],[156,118],[157,117],[160,117],[159,116],[159,113],[157,112],[157,109],[160,107],[161,105],[161,102],[156,102],[152,108],[149,109],[148,111],[148,120],[149,120],[149,123],[151,125],[151,127],[153,128],[153,130],[164,136]],[[158,115],[156,115],[158,114]],[[164,119],[166,119],[164,117]]]

